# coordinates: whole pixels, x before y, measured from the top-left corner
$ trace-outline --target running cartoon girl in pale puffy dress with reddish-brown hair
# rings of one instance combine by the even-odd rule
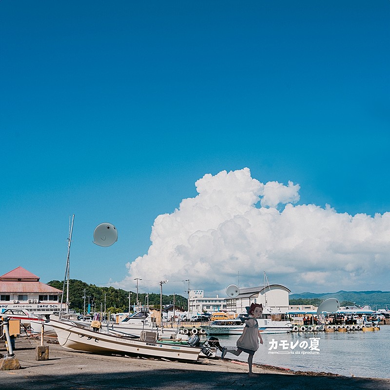
[[[258,331],[256,318],[261,317],[261,314],[263,313],[263,305],[261,303],[252,303],[251,306],[248,306],[246,309],[251,317],[245,321],[244,331],[237,340],[237,349],[228,350],[224,347],[222,350],[222,359],[225,357],[227,352],[233,353],[235,356],[240,355],[241,352],[248,353],[249,376],[255,376],[252,372],[253,356],[254,352],[259,348],[259,339],[260,344],[263,344],[263,339]]]

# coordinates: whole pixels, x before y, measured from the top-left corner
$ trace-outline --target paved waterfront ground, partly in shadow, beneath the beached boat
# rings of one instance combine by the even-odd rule
[[[49,343],[48,343],[49,341]],[[256,377],[248,376],[248,366],[232,360],[201,359],[183,363],[98,355],[67,350],[45,339],[49,359],[36,360],[40,340],[18,338],[15,356],[20,370],[0,371],[0,390],[390,390],[390,379],[352,378],[331,373],[299,372],[254,365]],[[0,353],[6,355],[4,344]]]

